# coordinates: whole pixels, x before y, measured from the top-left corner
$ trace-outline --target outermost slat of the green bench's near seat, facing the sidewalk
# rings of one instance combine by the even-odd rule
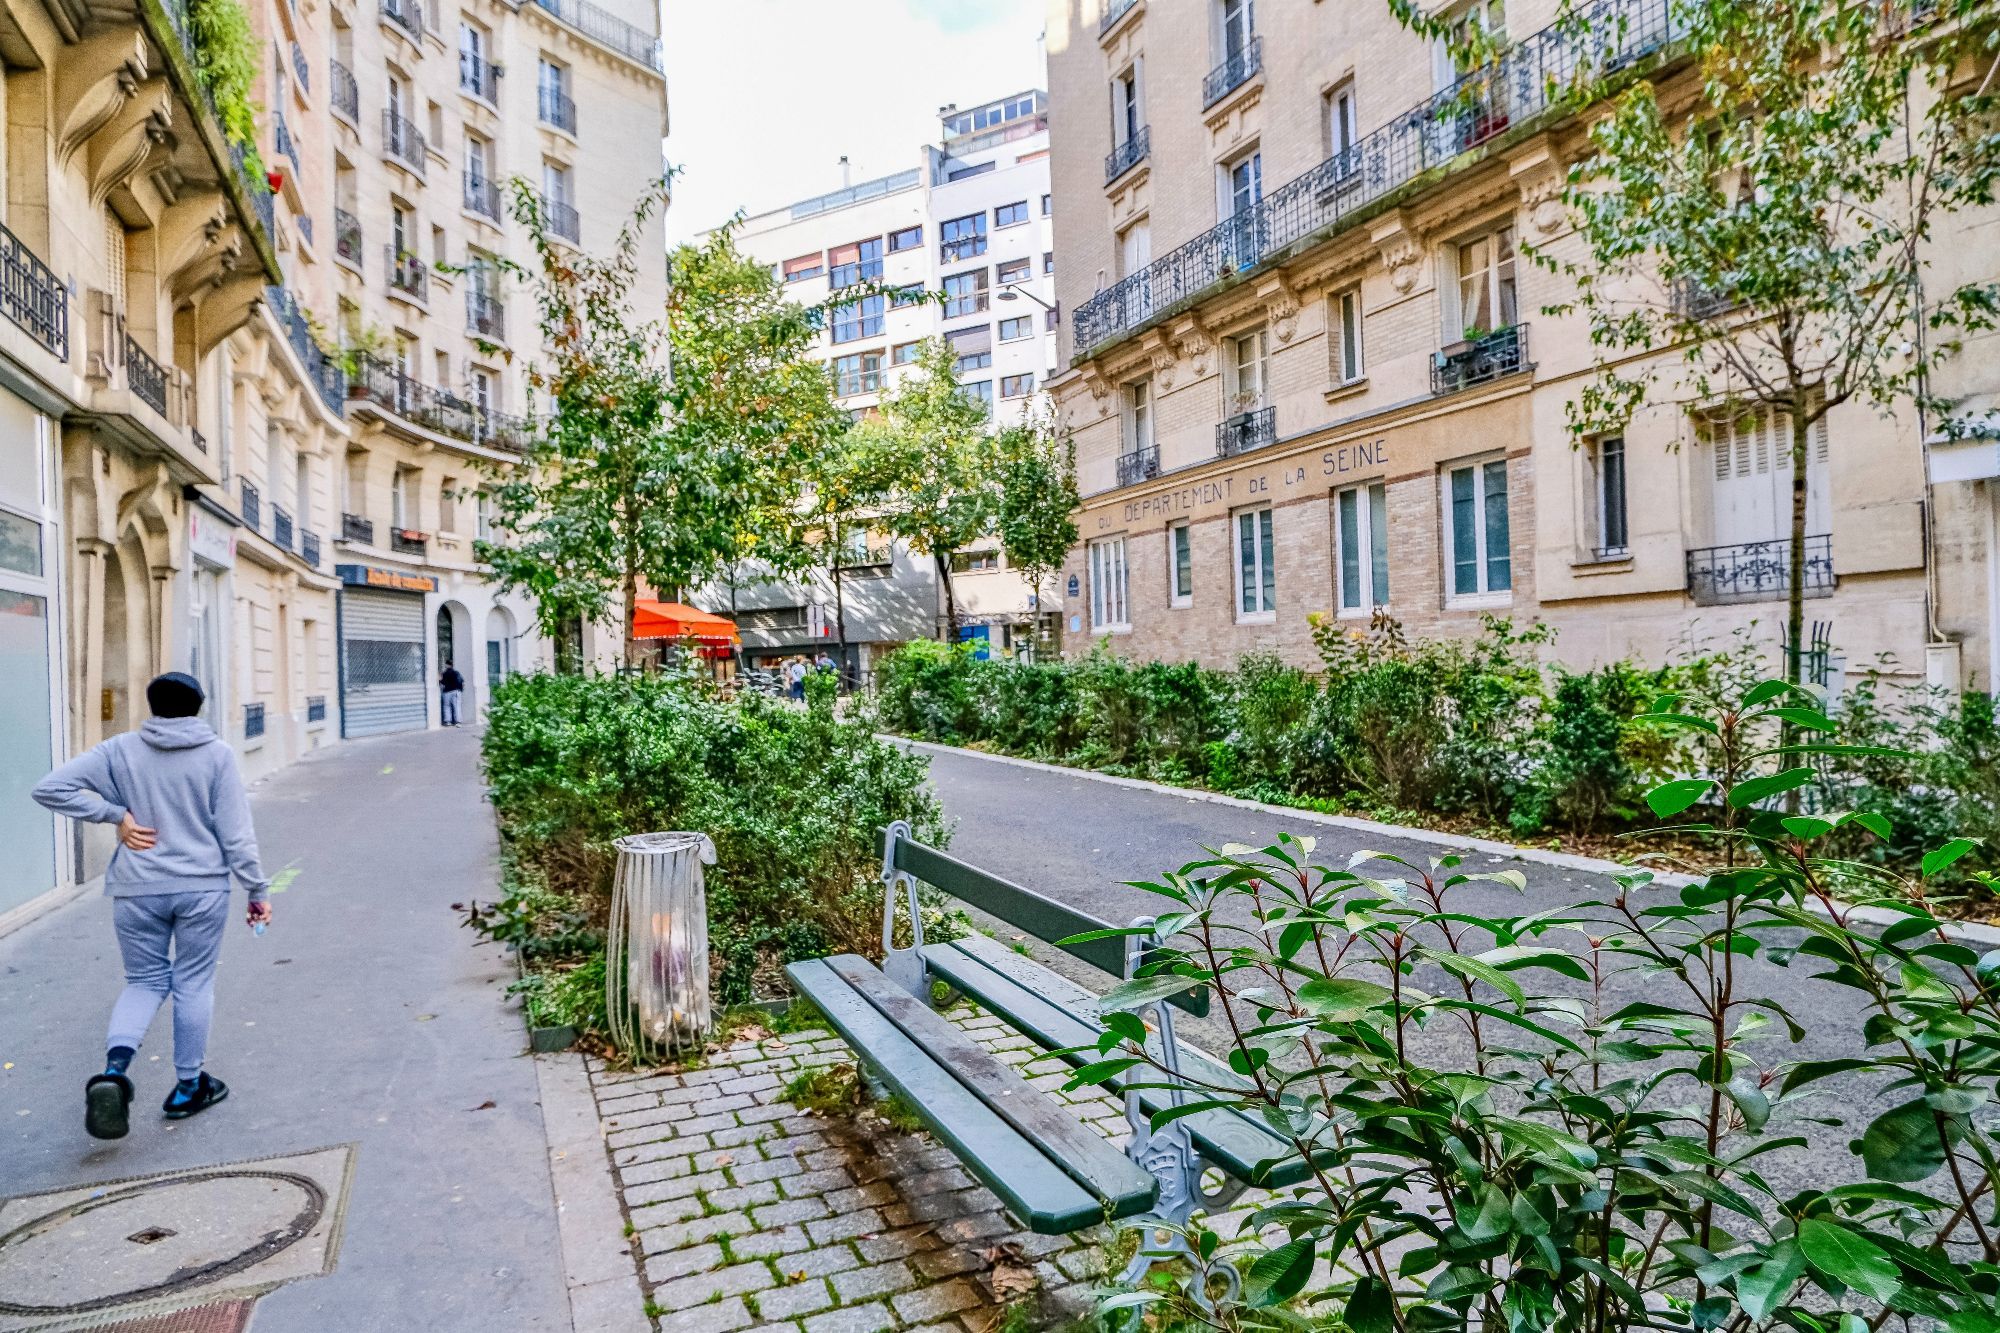
[[[1000,1195],[1030,1231],[1068,1235],[1104,1219],[1100,1199],[910,1041],[834,973],[826,959],[804,959],[784,971],[856,1055],[924,1117],[932,1133]]]

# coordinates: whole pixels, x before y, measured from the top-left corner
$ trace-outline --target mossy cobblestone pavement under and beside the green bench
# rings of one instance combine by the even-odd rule
[[[1000,1019],[964,1005],[950,1017],[1124,1143],[1118,1101],[1062,1093],[1060,1061]],[[838,1037],[800,1031],[730,1047],[688,1073],[614,1073],[592,1061],[662,1333],[988,1333],[1010,1307],[1026,1305],[1028,1327],[1088,1311],[1108,1229],[1020,1231],[930,1135],[782,1101],[800,1071],[852,1059]]]

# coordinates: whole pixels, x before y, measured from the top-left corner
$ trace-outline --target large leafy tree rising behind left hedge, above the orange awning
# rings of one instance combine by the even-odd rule
[[[580,254],[550,240],[540,196],[514,182],[536,268],[512,272],[534,290],[544,342],[528,382],[548,408],[496,488],[504,540],[476,546],[502,586],[534,598],[546,634],[622,602],[628,664],[640,582],[682,588],[732,560],[790,558],[782,514],[846,424],[806,356],[818,312],[784,300],[732,228],[672,252],[664,318],[632,308],[640,238],[664,202],[662,182],[608,254]]]

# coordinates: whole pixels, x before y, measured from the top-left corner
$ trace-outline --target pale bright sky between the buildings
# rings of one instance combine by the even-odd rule
[[[686,240],[916,166],[938,108],[1042,88],[1046,0],[664,0],[666,214]]]

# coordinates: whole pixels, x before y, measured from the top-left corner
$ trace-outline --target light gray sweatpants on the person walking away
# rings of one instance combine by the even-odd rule
[[[216,1013],[216,957],[230,919],[228,893],[148,893],[112,899],[118,955],[126,989],[112,1005],[104,1047],[146,1039],[152,1017],[174,997],[174,1073],[192,1079],[208,1055],[208,1021]],[[174,957],[168,959],[168,945]]]

